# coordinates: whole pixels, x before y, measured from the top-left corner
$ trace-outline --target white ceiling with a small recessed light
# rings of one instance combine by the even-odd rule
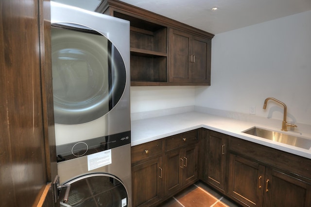
[[[95,10],[100,0],[56,0],[81,2]],[[258,24],[311,10],[311,0],[121,0],[172,18],[212,34]],[[211,8],[218,10],[212,11]]]

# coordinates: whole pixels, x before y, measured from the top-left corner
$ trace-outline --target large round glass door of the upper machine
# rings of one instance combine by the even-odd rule
[[[54,119],[67,125],[107,114],[118,104],[126,84],[117,48],[104,35],[72,25],[52,27]]]

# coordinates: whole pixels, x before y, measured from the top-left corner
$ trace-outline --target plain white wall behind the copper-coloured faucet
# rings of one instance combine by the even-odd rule
[[[196,105],[311,124],[311,11],[215,35],[211,86],[196,89]],[[272,107],[272,108],[271,108]],[[268,114],[270,112],[270,114]]]

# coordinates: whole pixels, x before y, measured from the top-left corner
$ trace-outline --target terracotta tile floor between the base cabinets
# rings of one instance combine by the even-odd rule
[[[239,207],[239,205],[198,181],[159,207]]]

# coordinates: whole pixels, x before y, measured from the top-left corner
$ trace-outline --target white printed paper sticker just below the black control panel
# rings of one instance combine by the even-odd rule
[[[88,171],[95,170],[111,163],[111,150],[105,150],[103,152],[87,155]]]

